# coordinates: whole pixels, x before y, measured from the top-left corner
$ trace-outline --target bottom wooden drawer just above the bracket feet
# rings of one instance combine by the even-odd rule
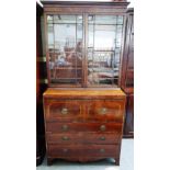
[[[113,157],[118,145],[48,145],[49,157]]]

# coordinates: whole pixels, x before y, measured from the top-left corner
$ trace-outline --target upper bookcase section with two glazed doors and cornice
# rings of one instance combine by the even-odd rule
[[[88,8],[87,1],[71,8],[66,1],[48,2],[44,1],[48,86],[120,87],[124,8],[114,11],[103,1],[101,8]]]

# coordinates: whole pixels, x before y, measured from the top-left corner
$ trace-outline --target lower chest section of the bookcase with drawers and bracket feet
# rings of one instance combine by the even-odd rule
[[[67,93],[44,93],[48,165],[56,158],[80,162],[114,158],[120,165],[125,94],[107,90],[101,95],[93,90],[84,95],[82,90],[81,95],[79,90],[68,98]]]

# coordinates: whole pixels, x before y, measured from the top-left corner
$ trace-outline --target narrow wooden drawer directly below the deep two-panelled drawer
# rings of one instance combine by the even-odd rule
[[[95,133],[105,133],[105,132],[115,132],[122,133],[121,123],[46,123],[46,132],[52,133],[72,133],[72,132],[95,132]]]

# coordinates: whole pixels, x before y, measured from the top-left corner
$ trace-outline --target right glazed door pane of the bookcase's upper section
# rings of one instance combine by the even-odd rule
[[[89,15],[88,86],[117,86],[123,16]]]

